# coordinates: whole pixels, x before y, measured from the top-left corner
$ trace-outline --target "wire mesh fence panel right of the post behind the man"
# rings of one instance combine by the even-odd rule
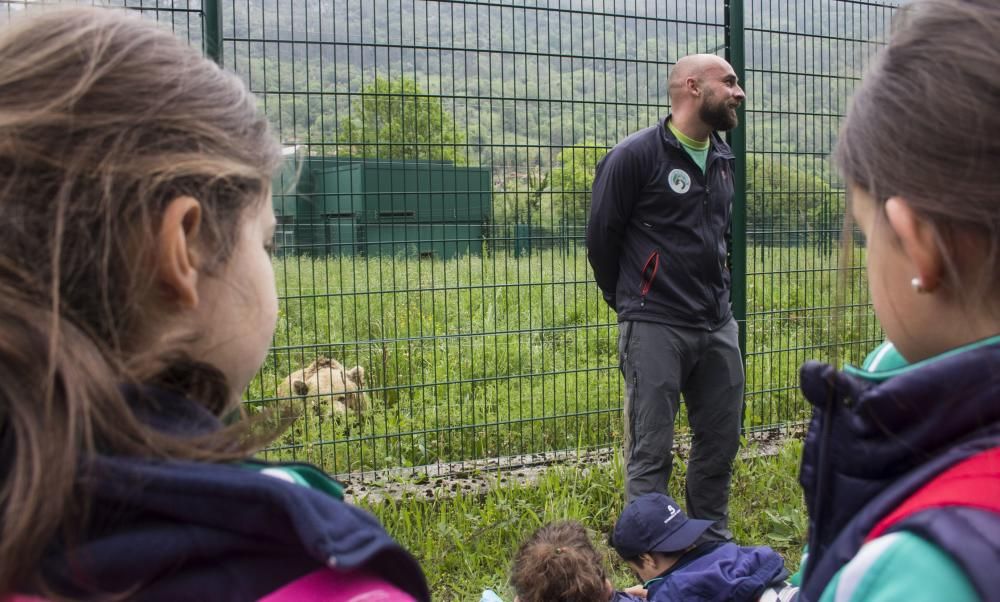
[[[858,363],[880,342],[863,261],[837,271],[845,194],[829,156],[850,92],[884,45],[898,3],[744,4],[744,424],[753,429],[808,417],[798,390],[804,361]]]

